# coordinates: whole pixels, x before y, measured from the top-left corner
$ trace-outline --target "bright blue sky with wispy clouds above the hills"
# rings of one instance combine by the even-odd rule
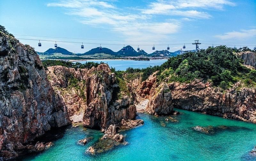
[[[1,0],[0,25],[36,51],[84,53],[102,44],[156,50],[256,45],[256,0]],[[27,35],[27,36],[24,36]],[[35,39],[35,40],[23,40]],[[42,46],[38,47],[38,40]],[[45,41],[46,40],[46,41]],[[81,45],[84,49],[81,49]]]

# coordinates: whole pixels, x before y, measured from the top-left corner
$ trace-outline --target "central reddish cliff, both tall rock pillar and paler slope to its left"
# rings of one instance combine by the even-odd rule
[[[132,96],[119,96],[115,73],[106,64],[91,69],[52,66],[48,67],[48,75],[64,97],[68,111],[72,114],[84,111],[84,127],[107,129],[122,119],[136,116]]]

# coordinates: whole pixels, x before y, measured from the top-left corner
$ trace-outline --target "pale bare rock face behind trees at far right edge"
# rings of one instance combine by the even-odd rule
[[[249,65],[256,69],[256,53],[251,51],[243,51],[236,53],[236,55],[244,60],[244,65]]]

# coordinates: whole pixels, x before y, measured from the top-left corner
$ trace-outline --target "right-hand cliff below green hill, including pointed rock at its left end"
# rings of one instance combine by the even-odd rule
[[[176,107],[256,123],[255,88],[240,89],[238,82],[233,88],[223,91],[198,79],[190,83],[165,82],[168,78],[160,83],[152,74],[141,83],[137,92],[149,99],[146,107],[149,114],[171,114]]]

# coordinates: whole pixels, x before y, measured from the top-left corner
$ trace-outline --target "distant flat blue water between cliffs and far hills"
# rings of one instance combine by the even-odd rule
[[[148,66],[162,65],[167,59],[157,59],[150,61],[138,61],[138,60],[88,60],[88,62],[104,62],[107,63],[110,67],[115,67],[116,70],[125,71],[127,67],[133,68],[147,68]],[[86,61],[78,61],[79,63],[85,63]],[[75,62],[74,62],[75,63]]]

